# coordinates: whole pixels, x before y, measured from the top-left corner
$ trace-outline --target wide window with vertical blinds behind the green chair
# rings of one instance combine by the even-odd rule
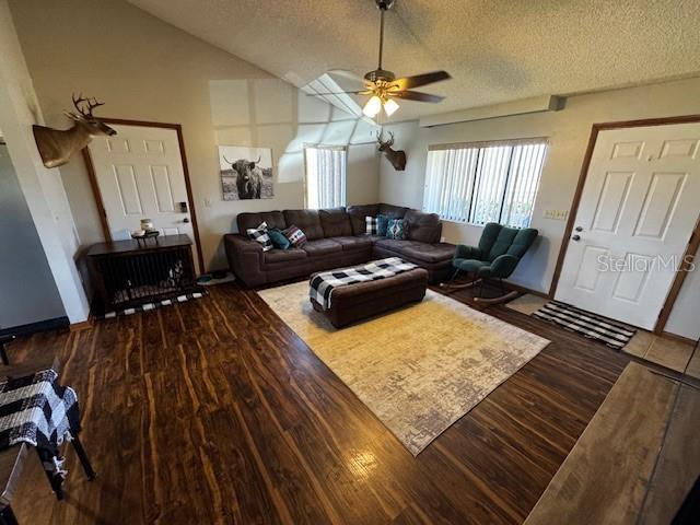
[[[527,228],[546,139],[430,147],[423,209],[448,221]]]

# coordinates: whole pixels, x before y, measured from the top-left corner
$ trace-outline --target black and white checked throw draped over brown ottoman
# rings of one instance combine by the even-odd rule
[[[308,295],[324,310],[330,308],[330,296],[338,287],[354,282],[376,281],[418,268],[399,257],[373,260],[366,265],[316,273],[310,281]]]

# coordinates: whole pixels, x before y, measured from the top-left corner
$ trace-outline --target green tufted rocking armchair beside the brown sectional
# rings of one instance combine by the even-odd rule
[[[502,280],[506,279],[515,271],[515,267],[523,258],[523,255],[533,245],[537,238],[537,230],[533,228],[517,229],[508,228],[489,222],[483,228],[483,233],[479,240],[479,246],[458,245],[455,252],[452,266],[455,272],[450,283],[444,284],[445,288],[468,288],[481,283],[486,279],[499,279],[501,289],[503,289]],[[466,271],[474,279],[466,284],[454,284],[454,280],[459,272]],[[483,287],[482,287],[483,288]],[[476,301],[502,302],[514,295],[515,292],[505,293],[502,296],[485,300],[479,293]]]

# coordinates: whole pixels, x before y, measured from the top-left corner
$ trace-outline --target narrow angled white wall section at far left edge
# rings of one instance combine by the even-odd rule
[[[66,314],[80,323],[90,310],[72,259],[74,224],[60,173],[44,167],[34,142],[32,125],[42,113],[7,0],[0,0],[0,127]]]

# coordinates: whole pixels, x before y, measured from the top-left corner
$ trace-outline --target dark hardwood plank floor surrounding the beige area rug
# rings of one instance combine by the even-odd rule
[[[57,502],[30,460],[15,512],[24,524],[521,523],[628,359],[486,311],[552,342],[417,458],[235,284],[21,340],[12,359],[58,351],[98,477],[69,451]]]

